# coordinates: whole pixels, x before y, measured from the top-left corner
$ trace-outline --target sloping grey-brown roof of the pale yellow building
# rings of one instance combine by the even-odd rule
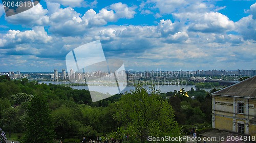
[[[214,92],[211,95],[256,98],[256,75]]]

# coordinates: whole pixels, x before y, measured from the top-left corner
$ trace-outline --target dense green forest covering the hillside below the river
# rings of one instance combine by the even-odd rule
[[[0,128],[7,138],[17,134],[20,142],[81,142],[97,136],[145,142],[148,135],[179,136],[210,127],[210,93],[200,89],[160,93],[138,86],[92,102],[87,90],[0,76]]]

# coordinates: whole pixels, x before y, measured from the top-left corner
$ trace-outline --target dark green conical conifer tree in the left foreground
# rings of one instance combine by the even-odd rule
[[[27,114],[27,131],[22,142],[52,143],[55,135],[46,97],[35,96],[29,104]]]

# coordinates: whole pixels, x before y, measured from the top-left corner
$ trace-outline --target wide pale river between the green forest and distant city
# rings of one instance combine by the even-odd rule
[[[72,82],[62,82],[62,81],[39,81],[39,83],[52,83],[52,84],[68,84]],[[81,82],[84,83],[84,82]],[[90,83],[89,83],[90,84]],[[70,86],[73,89],[77,90],[88,90],[87,86]],[[121,91],[121,93],[124,93],[126,91],[134,90],[135,87],[133,86],[127,86],[124,87],[123,84],[120,84],[120,88],[124,88],[124,90]],[[146,85],[143,86],[143,88],[147,88]],[[166,93],[166,92],[174,92],[174,90],[179,91],[180,89],[184,88],[185,91],[189,91],[191,88],[194,88],[196,90],[195,85],[156,85],[156,88],[160,90],[161,93]],[[116,87],[114,86],[100,86],[100,85],[90,85],[91,91],[98,91],[101,93],[109,93],[109,94],[116,94]],[[205,91],[210,91],[211,89],[202,89]]]

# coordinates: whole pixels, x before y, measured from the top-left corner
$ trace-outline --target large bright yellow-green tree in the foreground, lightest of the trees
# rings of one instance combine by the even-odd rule
[[[136,87],[114,105],[117,108],[114,118],[121,126],[119,135],[129,135],[132,142],[145,142],[148,135],[175,136],[180,132],[173,108],[161,99],[155,88],[151,88],[149,93],[142,87]]]

